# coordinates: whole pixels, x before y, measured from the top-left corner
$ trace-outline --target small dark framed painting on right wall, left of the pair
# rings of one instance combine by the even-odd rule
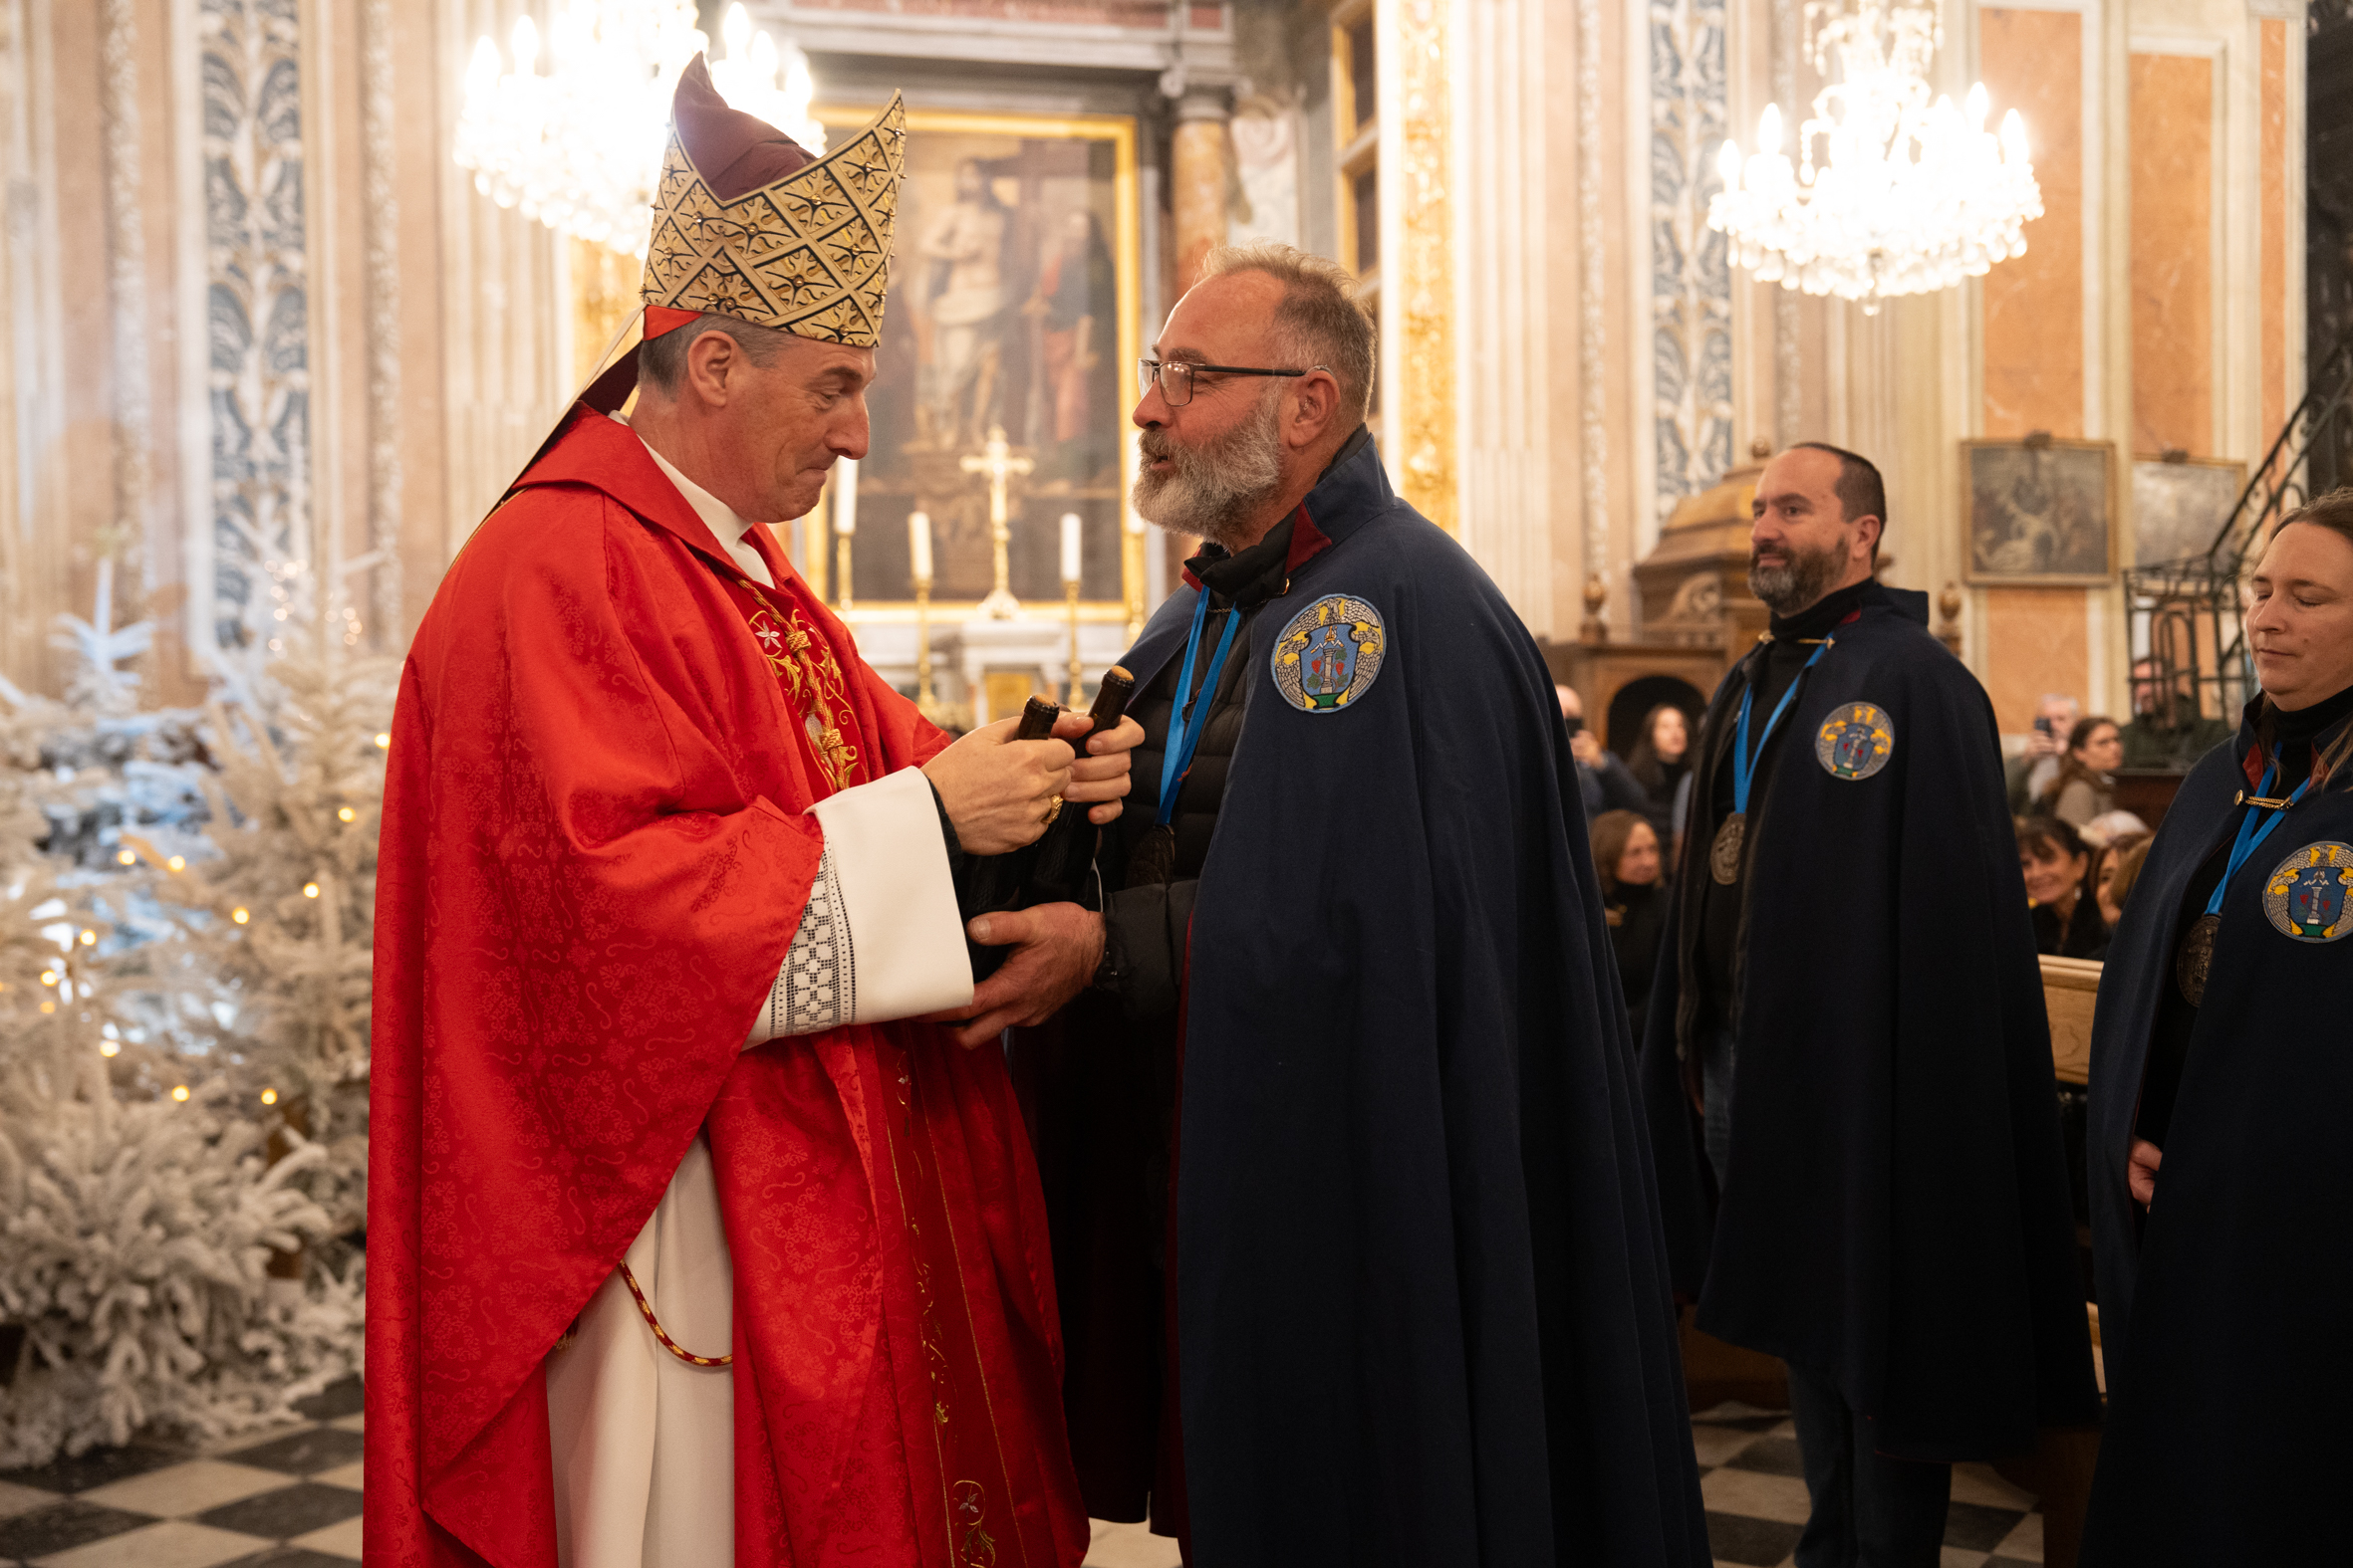
[[[1972,583],[2089,585],[2115,578],[2113,442],[1960,444]]]

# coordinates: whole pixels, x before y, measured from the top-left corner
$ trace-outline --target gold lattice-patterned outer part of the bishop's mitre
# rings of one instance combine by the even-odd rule
[[[906,179],[906,106],[812,165],[729,202],[678,132],[661,158],[645,306],[715,310],[753,327],[873,348],[882,339],[892,223]]]

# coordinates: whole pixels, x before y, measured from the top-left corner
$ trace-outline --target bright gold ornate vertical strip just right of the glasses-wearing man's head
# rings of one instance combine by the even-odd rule
[[[1454,158],[1447,82],[1452,5],[1386,0],[1381,71],[1395,59],[1398,92],[1384,92],[1384,209],[1395,209],[1395,247],[1381,244],[1381,336],[1388,353],[1386,404],[1395,407],[1398,491],[1447,534],[1459,531],[1454,458]],[[1384,82],[1386,89],[1386,82]],[[1395,103],[1391,115],[1386,103]],[[1395,167],[1391,176],[1388,169]],[[1391,202],[1395,188],[1395,202]],[[1388,212],[1381,216],[1391,226]]]

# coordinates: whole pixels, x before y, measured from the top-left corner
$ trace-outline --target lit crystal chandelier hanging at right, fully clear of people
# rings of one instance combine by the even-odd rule
[[[2026,162],[2026,122],[1986,129],[1986,85],[1965,110],[1929,106],[1927,68],[1944,42],[1937,12],[1906,0],[1805,7],[1814,71],[1838,80],[1814,96],[1798,129],[1798,165],[1781,153],[1781,108],[1758,115],[1758,153],[1727,141],[1715,160],[1725,188],[1708,228],[1762,282],[1864,301],[1875,315],[1894,294],[1932,294],[2026,254],[2021,233],[2042,216]],[[1817,160],[1817,143],[1821,158]]]

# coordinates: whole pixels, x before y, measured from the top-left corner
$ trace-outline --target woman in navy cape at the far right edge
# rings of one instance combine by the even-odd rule
[[[2353,489],[2280,524],[2247,642],[2264,693],[2165,813],[2092,1025],[2092,1568],[2344,1556]]]

